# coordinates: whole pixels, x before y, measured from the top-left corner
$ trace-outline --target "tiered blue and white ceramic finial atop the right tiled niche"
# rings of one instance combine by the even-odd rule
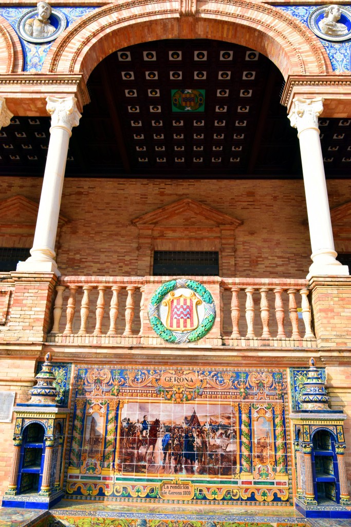
[[[307,372],[307,379],[304,383],[304,387],[300,394],[299,400],[303,410],[313,410],[316,411],[330,411],[329,408],[329,399],[330,397],[327,394],[325,389],[325,384],[322,379],[320,379],[318,370],[315,367],[315,359],[309,359],[309,369]]]

